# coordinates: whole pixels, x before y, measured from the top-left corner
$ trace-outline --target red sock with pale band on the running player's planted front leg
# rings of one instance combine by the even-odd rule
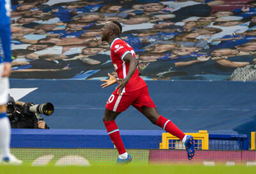
[[[118,154],[124,154],[126,152],[124,148],[124,143],[121,139],[119,129],[116,125],[115,120],[106,121],[104,122],[104,125],[106,126],[108,135],[112,141],[112,143],[116,146],[116,149],[118,150]]]

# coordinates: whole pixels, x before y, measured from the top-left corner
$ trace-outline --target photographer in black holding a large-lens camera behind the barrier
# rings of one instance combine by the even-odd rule
[[[43,121],[44,118],[38,119],[36,113],[29,111],[31,106],[34,104],[15,101],[13,97],[9,96],[7,115],[12,129],[49,129]]]

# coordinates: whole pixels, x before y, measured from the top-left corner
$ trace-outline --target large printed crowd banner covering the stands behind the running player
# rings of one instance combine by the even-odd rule
[[[14,0],[15,79],[115,75],[102,28],[122,25],[145,80],[256,80],[256,1]]]

